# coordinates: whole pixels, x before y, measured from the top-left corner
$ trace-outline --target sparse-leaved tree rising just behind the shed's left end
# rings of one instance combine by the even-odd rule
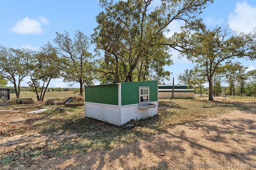
[[[64,82],[78,82],[80,94],[83,95],[83,85],[93,85],[95,79],[94,56],[88,52],[89,39],[79,30],[76,31],[73,41],[66,31],[64,34],[56,34],[54,43],[57,47],[52,49],[57,57],[53,59],[62,72]]]

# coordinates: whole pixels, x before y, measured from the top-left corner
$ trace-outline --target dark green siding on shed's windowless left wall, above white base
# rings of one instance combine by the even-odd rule
[[[118,105],[118,84],[85,87],[85,102]]]

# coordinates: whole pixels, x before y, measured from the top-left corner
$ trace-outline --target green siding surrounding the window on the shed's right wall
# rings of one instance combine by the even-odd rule
[[[143,82],[127,82],[121,84],[121,98],[122,106],[128,104],[139,103],[139,88],[138,86],[150,87],[150,102],[158,100],[158,82],[157,81],[143,81]]]

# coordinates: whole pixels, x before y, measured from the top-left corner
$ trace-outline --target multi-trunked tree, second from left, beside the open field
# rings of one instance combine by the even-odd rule
[[[44,101],[50,81],[60,77],[60,69],[54,64],[54,60],[52,60],[56,58],[56,54],[52,53],[48,47],[47,45],[42,47],[34,55],[34,70],[29,73],[31,81],[28,83],[36,93],[38,101]],[[40,82],[42,82],[42,86],[40,86]]]

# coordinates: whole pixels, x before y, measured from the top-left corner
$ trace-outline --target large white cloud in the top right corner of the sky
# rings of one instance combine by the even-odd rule
[[[228,24],[234,31],[249,33],[256,27],[256,6],[252,7],[244,2],[237,2],[234,13],[228,16]]]

